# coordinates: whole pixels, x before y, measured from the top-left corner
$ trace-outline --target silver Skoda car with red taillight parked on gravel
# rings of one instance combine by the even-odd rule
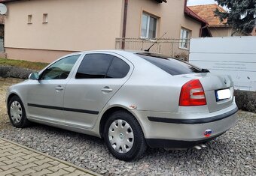
[[[46,124],[105,140],[133,160],[151,148],[191,148],[236,123],[230,76],[151,52],[66,55],[7,92],[14,127]]]

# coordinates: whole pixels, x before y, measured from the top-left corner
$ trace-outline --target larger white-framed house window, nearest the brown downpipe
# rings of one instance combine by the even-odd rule
[[[157,18],[150,16],[148,13],[142,14],[142,31],[143,38],[156,38],[157,34]]]

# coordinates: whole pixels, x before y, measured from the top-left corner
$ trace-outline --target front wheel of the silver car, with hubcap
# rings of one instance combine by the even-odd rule
[[[20,97],[11,97],[11,100],[8,102],[8,115],[14,127],[24,128],[30,124],[26,118],[26,111]]]

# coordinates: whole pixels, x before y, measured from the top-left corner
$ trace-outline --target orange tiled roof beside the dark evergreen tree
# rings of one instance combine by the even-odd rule
[[[216,8],[218,8],[218,10],[220,10],[221,12],[226,12],[226,10],[218,6],[218,4],[194,5],[188,7],[198,16],[205,19],[206,22],[209,23],[209,26],[224,26],[224,23],[227,22],[227,19],[221,22],[218,16],[215,16],[214,11],[216,10]]]

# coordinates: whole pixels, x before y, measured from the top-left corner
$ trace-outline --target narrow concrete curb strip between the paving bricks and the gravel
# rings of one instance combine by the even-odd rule
[[[37,153],[37,154],[43,155],[44,157],[48,157],[48,158],[50,158],[50,159],[52,159],[52,160],[56,160],[56,161],[58,161],[59,163],[63,163],[63,164],[65,164],[65,165],[71,166],[71,167],[73,167],[73,168],[75,168],[75,169],[80,170],[81,172],[86,172],[87,174],[95,175],[95,176],[102,176],[102,175],[97,174],[96,172],[92,172],[92,171],[90,171],[90,170],[87,170],[87,169],[78,167],[78,166],[76,166],[76,165],[74,165],[74,164],[72,164],[72,163],[69,163],[69,162],[66,162],[66,161],[63,161],[63,160],[59,160],[59,159],[56,158],[56,157],[52,157],[52,156],[47,155],[47,154],[44,154],[44,153],[42,153],[42,152],[40,152],[40,151],[35,151],[35,150],[32,149],[32,148],[28,148],[28,147],[26,147],[26,146],[24,146],[24,145],[20,145],[20,144],[18,144],[18,143],[16,143],[16,142],[9,141],[8,139],[4,139],[4,138],[0,138],[0,139],[2,139],[2,140],[5,141],[5,142],[10,142],[10,143],[13,144],[13,145],[17,145],[17,146],[19,146],[20,148],[24,148],[24,149],[26,149],[26,150],[28,150],[28,151],[33,151],[33,152],[35,152],[35,153]]]

